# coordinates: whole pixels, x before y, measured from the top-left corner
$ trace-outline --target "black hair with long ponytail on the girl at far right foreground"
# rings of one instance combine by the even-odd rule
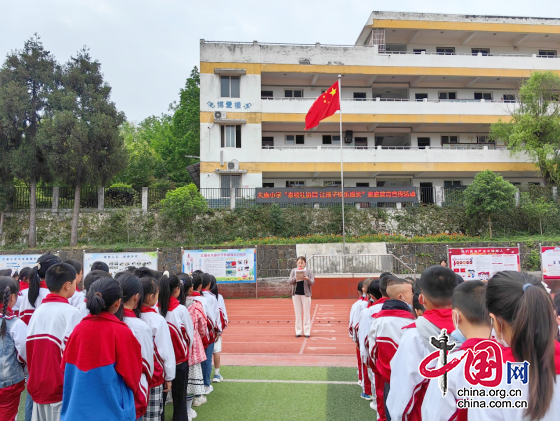
[[[498,272],[486,289],[488,312],[511,326],[516,361],[529,362],[526,415],[539,420],[547,413],[556,379],[554,363],[557,324],[554,305],[542,283],[527,273]]]

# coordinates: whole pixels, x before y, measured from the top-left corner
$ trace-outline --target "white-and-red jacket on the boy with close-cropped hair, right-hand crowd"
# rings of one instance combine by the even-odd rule
[[[410,324],[414,316],[406,303],[387,300],[381,311],[372,316],[369,342],[373,343],[370,353],[375,371],[386,383],[391,381],[391,360],[399,348],[403,327]]]

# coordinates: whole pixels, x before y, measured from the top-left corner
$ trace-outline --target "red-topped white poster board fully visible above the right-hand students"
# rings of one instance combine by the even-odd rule
[[[502,270],[521,271],[519,247],[450,248],[449,267],[465,281],[490,279]]]

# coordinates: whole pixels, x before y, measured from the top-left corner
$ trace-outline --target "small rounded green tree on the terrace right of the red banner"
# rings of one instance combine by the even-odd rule
[[[490,170],[479,172],[464,192],[463,201],[468,216],[481,216],[488,221],[492,238],[492,217],[515,206],[515,187]]]

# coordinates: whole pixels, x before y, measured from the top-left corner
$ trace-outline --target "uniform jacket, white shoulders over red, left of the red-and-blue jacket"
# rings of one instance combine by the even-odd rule
[[[62,401],[64,374],[60,369],[68,337],[82,320],[68,300],[49,294],[33,313],[27,330],[27,390],[38,404]]]

